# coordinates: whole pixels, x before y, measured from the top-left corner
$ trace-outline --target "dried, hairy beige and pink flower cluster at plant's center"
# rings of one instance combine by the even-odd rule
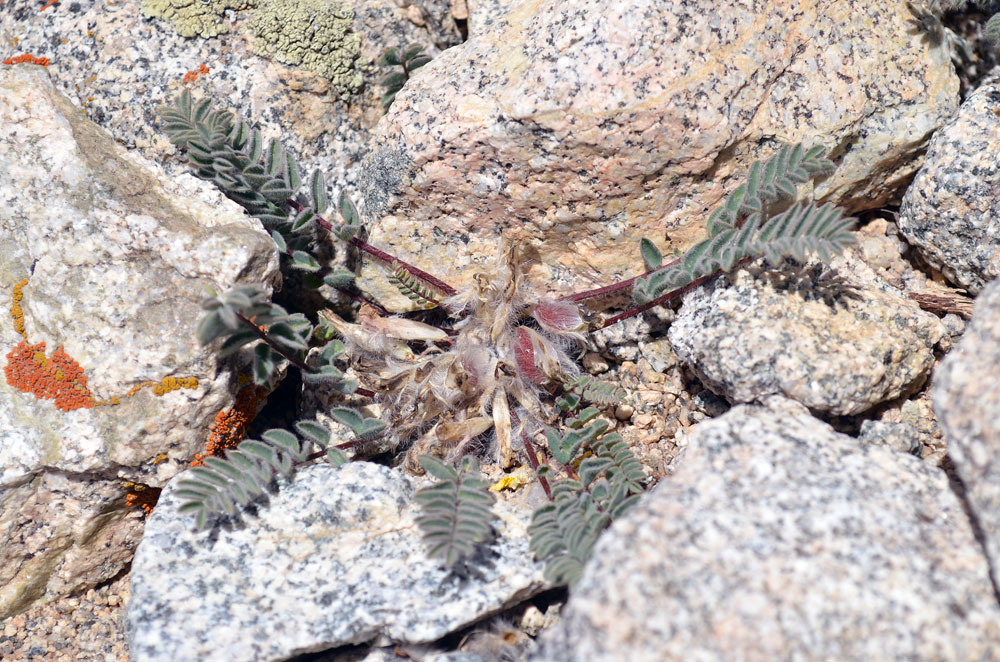
[[[550,418],[539,397],[543,388],[579,373],[568,353],[582,340],[581,324],[574,321],[582,322],[578,310],[564,302],[532,304],[524,264],[519,243],[505,241],[491,271],[475,274],[469,288],[443,302],[463,315],[451,338],[435,327],[379,317],[370,308],[354,325],[325,313],[358,350],[359,374],[371,376],[371,386],[382,394],[379,403],[394,441],[410,445],[409,468],[420,472],[415,458],[423,453],[457,460],[470,452],[511,466],[523,435]],[[521,324],[529,311],[537,328]],[[434,344],[416,356],[405,341],[421,333]]]

